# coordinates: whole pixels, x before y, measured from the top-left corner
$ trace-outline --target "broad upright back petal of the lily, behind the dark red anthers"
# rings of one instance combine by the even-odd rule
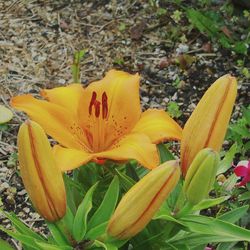
[[[104,110],[102,97],[104,93],[107,96],[106,118],[99,118],[104,138],[101,148],[108,148],[118,138],[129,133],[139,120],[141,115],[139,80],[138,74],[131,75],[110,70],[102,80],[91,83],[85,89],[78,113],[84,128],[92,127],[93,119],[88,117],[93,93],[96,93],[96,100],[101,103],[100,117],[102,115],[105,117],[105,113],[102,113]]]

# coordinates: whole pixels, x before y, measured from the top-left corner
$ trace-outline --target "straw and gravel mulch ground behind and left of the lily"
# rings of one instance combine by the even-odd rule
[[[249,67],[247,56],[220,47],[191,27],[183,10],[172,2],[0,0],[0,104],[9,106],[12,96],[36,96],[42,88],[71,83],[73,54],[86,49],[83,85],[111,68],[139,72],[143,107],[166,109],[170,101],[177,102],[182,126],[207,87],[218,77],[233,74],[239,93],[232,119],[238,118],[240,107],[249,104],[249,79],[237,61]],[[220,10],[221,1],[214,2],[209,8]],[[196,7],[192,1],[183,4]],[[230,24],[231,17],[224,17]],[[16,134],[24,120],[24,114],[15,112],[7,129],[0,130],[0,206],[44,232],[43,220],[30,206],[17,171]],[[2,215],[0,224],[11,227]],[[2,232],[0,236],[8,238]]]

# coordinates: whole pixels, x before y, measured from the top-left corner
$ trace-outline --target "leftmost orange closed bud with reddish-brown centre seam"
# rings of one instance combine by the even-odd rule
[[[21,176],[35,209],[48,221],[59,220],[66,212],[65,187],[44,130],[26,121],[17,144]]]

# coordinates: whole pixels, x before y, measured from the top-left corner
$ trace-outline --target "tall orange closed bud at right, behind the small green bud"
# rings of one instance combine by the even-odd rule
[[[217,152],[220,150],[236,94],[236,79],[231,75],[224,75],[201,98],[183,130],[181,167],[184,176],[201,149],[212,148]]]

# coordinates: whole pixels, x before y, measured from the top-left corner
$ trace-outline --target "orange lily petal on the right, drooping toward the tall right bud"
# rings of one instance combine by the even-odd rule
[[[132,131],[146,134],[153,143],[180,140],[182,134],[181,127],[164,110],[157,109],[143,112]]]

